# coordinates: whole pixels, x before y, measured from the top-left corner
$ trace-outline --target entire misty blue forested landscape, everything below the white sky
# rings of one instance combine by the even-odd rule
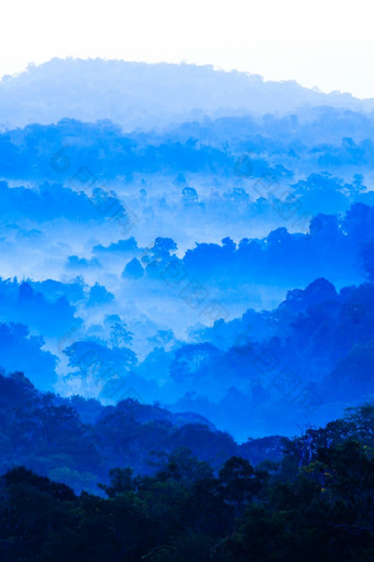
[[[1,560],[372,560],[370,100],[103,64],[0,82]]]

